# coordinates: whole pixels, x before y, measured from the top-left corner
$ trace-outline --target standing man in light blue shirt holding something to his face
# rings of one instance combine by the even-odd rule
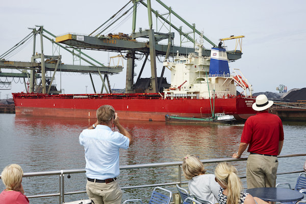
[[[86,160],[86,192],[95,204],[121,203],[119,148],[132,144],[132,135],[119,123],[115,109],[104,105],[97,110],[97,121],[83,130],[79,142],[84,146]],[[113,132],[116,125],[119,132]]]

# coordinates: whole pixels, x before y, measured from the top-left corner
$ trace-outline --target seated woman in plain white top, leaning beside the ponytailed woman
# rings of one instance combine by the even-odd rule
[[[214,174],[205,174],[204,165],[198,157],[193,155],[184,157],[183,172],[186,179],[190,180],[188,188],[192,196],[213,203],[218,202],[220,185],[216,183]]]

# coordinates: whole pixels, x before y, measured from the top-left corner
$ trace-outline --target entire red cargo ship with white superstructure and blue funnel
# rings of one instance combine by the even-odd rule
[[[171,70],[171,87],[160,93],[132,94],[40,94],[13,93],[16,115],[95,118],[101,105],[112,105],[120,119],[165,121],[165,115],[214,117],[234,115],[236,120],[255,114],[251,86],[234,69],[230,74],[224,48],[212,48],[211,57],[197,53],[164,62]],[[236,70],[236,71],[235,71]],[[243,75],[242,75],[243,76]],[[236,86],[244,95],[236,96]]]

